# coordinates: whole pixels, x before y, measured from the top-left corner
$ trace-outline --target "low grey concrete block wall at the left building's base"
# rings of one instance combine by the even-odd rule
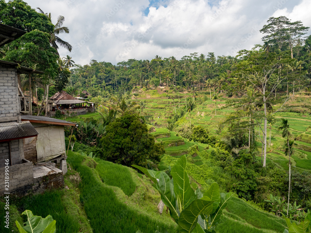
[[[4,192],[23,194],[32,187],[34,183],[34,173],[32,162],[25,162],[9,166],[9,190],[5,190],[5,167],[0,168],[0,194]]]

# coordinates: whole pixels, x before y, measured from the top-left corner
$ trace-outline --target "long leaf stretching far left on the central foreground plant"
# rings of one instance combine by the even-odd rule
[[[171,180],[163,171],[152,171],[137,165],[132,166],[141,170],[156,184],[156,188],[161,194],[163,203],[169,208],[171,217],[175,219],[176,223],[178,223],[179,210],[174,193],[173,179]]]

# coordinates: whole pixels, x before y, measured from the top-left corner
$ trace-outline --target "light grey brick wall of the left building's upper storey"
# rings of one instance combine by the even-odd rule
[[[0,118],[16,117],[19,108],[16,68],[0,65]]]

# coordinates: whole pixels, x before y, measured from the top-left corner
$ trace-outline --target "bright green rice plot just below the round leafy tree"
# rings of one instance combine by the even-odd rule
[[[123,193],[130,196],[135,192],[136,184],[131,178],[127,167],[96,158],[98,163],[96,171],[103,183],[122,189]]]

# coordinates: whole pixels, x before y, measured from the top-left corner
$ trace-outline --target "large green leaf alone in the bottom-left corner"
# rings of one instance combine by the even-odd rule
[[[42,218],[33,215],[30,210],[25,210],[22,214],[27,216],[27,222],[24,223],[26,226],[22,226],[18,221],[15,222],[20,233],[54,233],[56,231],[56,221],[51,215]]]

